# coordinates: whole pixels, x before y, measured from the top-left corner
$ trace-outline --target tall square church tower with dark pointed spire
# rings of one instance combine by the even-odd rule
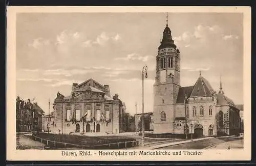
[[[156,56],[154,84],[154,132],[156,133],[170,132],[174,129],[174,105],[180,88],[180,51],[172,39],[172,32],[168,27],[168,15],[166,18],[166,27]]]

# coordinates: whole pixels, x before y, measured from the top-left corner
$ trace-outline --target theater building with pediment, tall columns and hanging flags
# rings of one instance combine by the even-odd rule
[[[79,85],[74,83],[70,96],[58,92],[53,105],[55,125],[52,132],[120,132],[122,101],[117,94],[111,97],[108,85],[101,85],[94,79]]]

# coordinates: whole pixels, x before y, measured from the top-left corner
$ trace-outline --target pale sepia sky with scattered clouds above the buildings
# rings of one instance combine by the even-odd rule
[[[243,103],[243,15],[169,13],[168,25],[181,52],[181,86],[194,85],[199,71],[218,91]],[[49,112],[58,91],[93,78],[110,85],[127,111],[153,111],[155,56],[166,13],[22,13],[16,22],[16,94],[34,98]],[[52,105],[51,105],[52,111]]]

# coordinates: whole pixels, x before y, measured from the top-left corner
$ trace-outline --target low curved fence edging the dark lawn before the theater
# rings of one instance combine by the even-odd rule
[[[33,135],[32,138],[35,141],[46,144],[43,149],[123,149],[139,146],[139,141],[127,141],[119,143],[101,144],[101,145],[78,145],[70,143],[62,143],[57,141],[50,141],[42,139],[38,136]]]

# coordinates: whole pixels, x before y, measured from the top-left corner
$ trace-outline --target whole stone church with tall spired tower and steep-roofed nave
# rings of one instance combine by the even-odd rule
[[[193,86],[180,85],[180,50],[174,44],[168,20],[156,56],[154,133],[233,135],[239,133],[239,109],[217,93],[199,74]]]

